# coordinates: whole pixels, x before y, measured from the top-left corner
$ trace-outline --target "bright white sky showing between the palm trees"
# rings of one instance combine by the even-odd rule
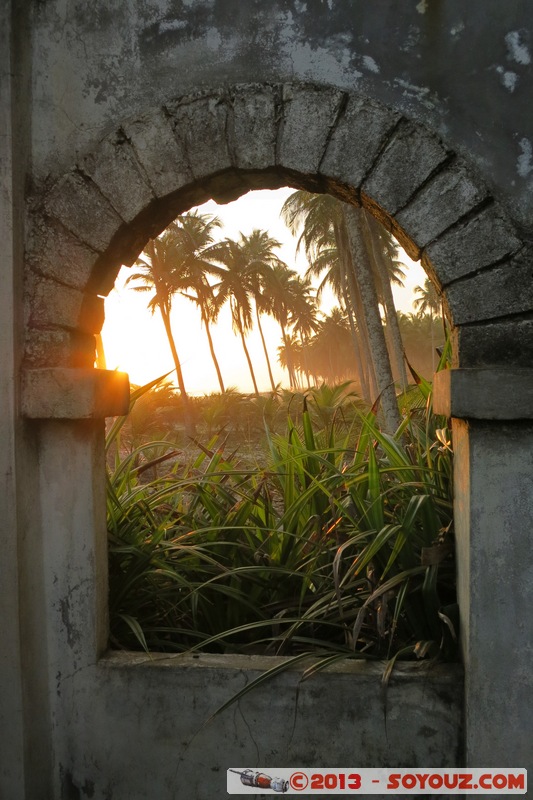
[[[249,192],[228,205],[217,205],[210,200],[201,206],[202,213],[218,216],[223,224],[220,238],[237,238],[239,233],[249,234],[254,228],[267,230],[271,236],[283,242],[279,256],[292,269],[305,272],[305,256],[296,257],[296,240],[279,217],[280,208],[294,189]],[[426,277],[420,264],[402,256],[406,265],[405,288],[394,288],[397,308],[408,313],[412,310],[413,289],[422,285]],[[144,384],[173,369],[172,356],[165,336],[161,317],[156,311],[151,315],[147,309],[150,293],[135,292],[124,283],[131,270],[123,267],[115,288],[106,299],[106,320],[102,329],[107,369],[120,369],[129,373],[135,384]],[[332,299],[324,298],[323,310],[332,305]],[[205,331],[200,323],[196,306],[185,298],[173,300],[172,328],[178,354],[182,364],[185,386],[192,395],[218,392],[219,385],[215,368],[209,354]],[[280,328],[269,317],[263,318],[263,328],[269,348],[274,380],[287,385],[284,370],[277,363],[277,348],[281,344]],[[253,390],[240,339],[231,329],[229,308],[220,314],[219,321],[212,326],[215,351],[226,388],[236,387],[242,392]],[[259,334],[252,331],[248,347],[260,391],[270,390],[270,382]]]

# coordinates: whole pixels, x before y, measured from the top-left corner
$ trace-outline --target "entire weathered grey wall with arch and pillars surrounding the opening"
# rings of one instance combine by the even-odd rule
[[[533,770],[532,54],[527,0],[1,4],[0,797]],[[94,369],[94,334],[175,214],[282,185],[366,207],[443,292],[463,665],[386,695],[373,665],[288,672],[202,727],[264,665],[108,651],[104,419],[128,379]]]

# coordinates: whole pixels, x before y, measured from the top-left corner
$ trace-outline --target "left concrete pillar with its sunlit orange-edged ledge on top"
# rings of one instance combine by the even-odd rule
[[[129,382],[119,372],[41,369],[24,373],[21,390],[24,798],[49,800],[69,796],[68,765],[79,755],[76,676],[107,647],[104,418],[126,413]]]

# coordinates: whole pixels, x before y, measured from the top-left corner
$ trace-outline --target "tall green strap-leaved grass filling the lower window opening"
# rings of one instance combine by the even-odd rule
[[[430,387],[417,391],[394,437],[356,403],[340,425],[333,396],[324,413],[320,396],[296,398],[286,432],[266,428],[265,463],[248,468],[217,435],[186,462],[165,440],[120,455],[117,420],[112,644],[320,664],[452,658],[452,451]]]

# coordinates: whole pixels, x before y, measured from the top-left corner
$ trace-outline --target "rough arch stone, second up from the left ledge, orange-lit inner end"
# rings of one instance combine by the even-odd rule
[[[46,278],[35,278],[30,288],[30,325],[57,325],[83,333],[98,333],[104,323],[104,300]]]

